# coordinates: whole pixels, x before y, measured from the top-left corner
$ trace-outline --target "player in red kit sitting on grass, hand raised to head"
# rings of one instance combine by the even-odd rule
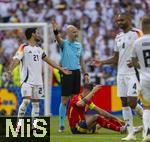
[[[97,124],[117,132],[125,132],[126,126],[122,120],[97,107],[91,101],[95,92],[100,89],[100,85],[93,86],[91,83],[85,84],[83,92],[73,96],[70,100],[67,115],[72,133],[94,133]],[[95,110],[97,114],[85,118],[88,109]]]

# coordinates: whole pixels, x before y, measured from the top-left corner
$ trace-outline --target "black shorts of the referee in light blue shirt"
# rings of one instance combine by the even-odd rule
[[[81,72],[80,70],[71,70],[72,74],[61,74],[62,96],[72,96],[80,92]]]

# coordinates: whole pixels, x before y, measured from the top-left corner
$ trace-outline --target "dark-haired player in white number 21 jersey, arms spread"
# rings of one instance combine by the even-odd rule
[[[39,116],[39,101],[43,95],[42,61],[59,69],[64,74],[70,74],[70,72],[66,69],[62,69],[49,59],[38,46],[37,43],[40,36],[37,28],[26,29],[25,36],[28,40],[28,44],[20,45],[9,66],[8,75],[10,75],[13,69],[20,63],[21,93],[23,101],[19,107],[18,117],[24,116],[30,101],[32,101],[32,117],[37,117]],[[19,119],[17,131],[19,131],[21,124],[22,119]]]

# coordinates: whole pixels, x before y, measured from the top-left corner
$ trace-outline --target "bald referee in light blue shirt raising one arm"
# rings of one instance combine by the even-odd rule
[[[89,75],[83,61],[83,48],[77,41],[78,29],[73,25],[68,25],[66,29],[67,38],[62,39],[56,22],[52,22],[55,38],[61,49],[61,66],[72,71],[70,75],[61,74],[61,103],[59,107],[59,132],[64,131],[64,120],[66,116],[66,106],[70,96],[80,92],[81,69],[85,83],[89,83]]]

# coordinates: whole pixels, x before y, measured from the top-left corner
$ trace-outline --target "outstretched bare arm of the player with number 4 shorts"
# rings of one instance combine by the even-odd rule
[[[118,59],[119,59],[119,52],[114,52],[113,56],[110,59],[107,60],[97,60],[97,59],[93,59],[92,60],[92,65],[94,66],[102,66],[105,64],[117,64],[118,63]]]

